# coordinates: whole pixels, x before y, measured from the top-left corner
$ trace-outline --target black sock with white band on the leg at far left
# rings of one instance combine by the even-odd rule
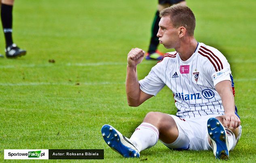
[[[13,6],[7,4],[1,5],[1,21],[4,29],[4,37],[7,48],[13,44]]]

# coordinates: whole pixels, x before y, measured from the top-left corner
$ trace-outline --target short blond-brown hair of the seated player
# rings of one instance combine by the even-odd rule
[[[196,19],[194,13],[188,6],[175,4],[165,8],[160,12],[160,17],[166,16],[170,17],[173,27],[185,27],[189,36],[194,35]]]

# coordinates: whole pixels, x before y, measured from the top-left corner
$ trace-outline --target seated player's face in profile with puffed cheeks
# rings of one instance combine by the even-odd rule
[[[168,16],[161,18],[157,37],[165,48],[177,48],[179,45],[179,29],[173,27]]]

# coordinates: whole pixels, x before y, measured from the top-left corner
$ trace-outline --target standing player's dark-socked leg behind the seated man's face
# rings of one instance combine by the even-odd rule
[[[163,54],[157,50],[157,46],[159,45],[159,40],[157,37],[157,32],[159,29],[159,12],[163,10],[164,8],[167,8],[173,4],[184,4],[186,5],[185,0],[158,0],[158,10],[156,12],[156,15],[154,16],[154,21],[152,23],[151,27],[151,38],[150,38],[150,44],[148,47],[148,52],[146,53],[146,59],[157,59],[161,60],[163,58]]]

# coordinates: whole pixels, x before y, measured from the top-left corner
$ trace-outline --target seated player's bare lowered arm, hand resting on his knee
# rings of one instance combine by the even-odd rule
[[[224,127],[235,129],[237,128],[241,121],[239,117],[235,114],[235,100],[233,96],[233,89],[231,86],[231,81],[224,80],[220,81],[215,86],[216,91],[221,97],[222,104],[224,107],[224,118],[223,125]]]

